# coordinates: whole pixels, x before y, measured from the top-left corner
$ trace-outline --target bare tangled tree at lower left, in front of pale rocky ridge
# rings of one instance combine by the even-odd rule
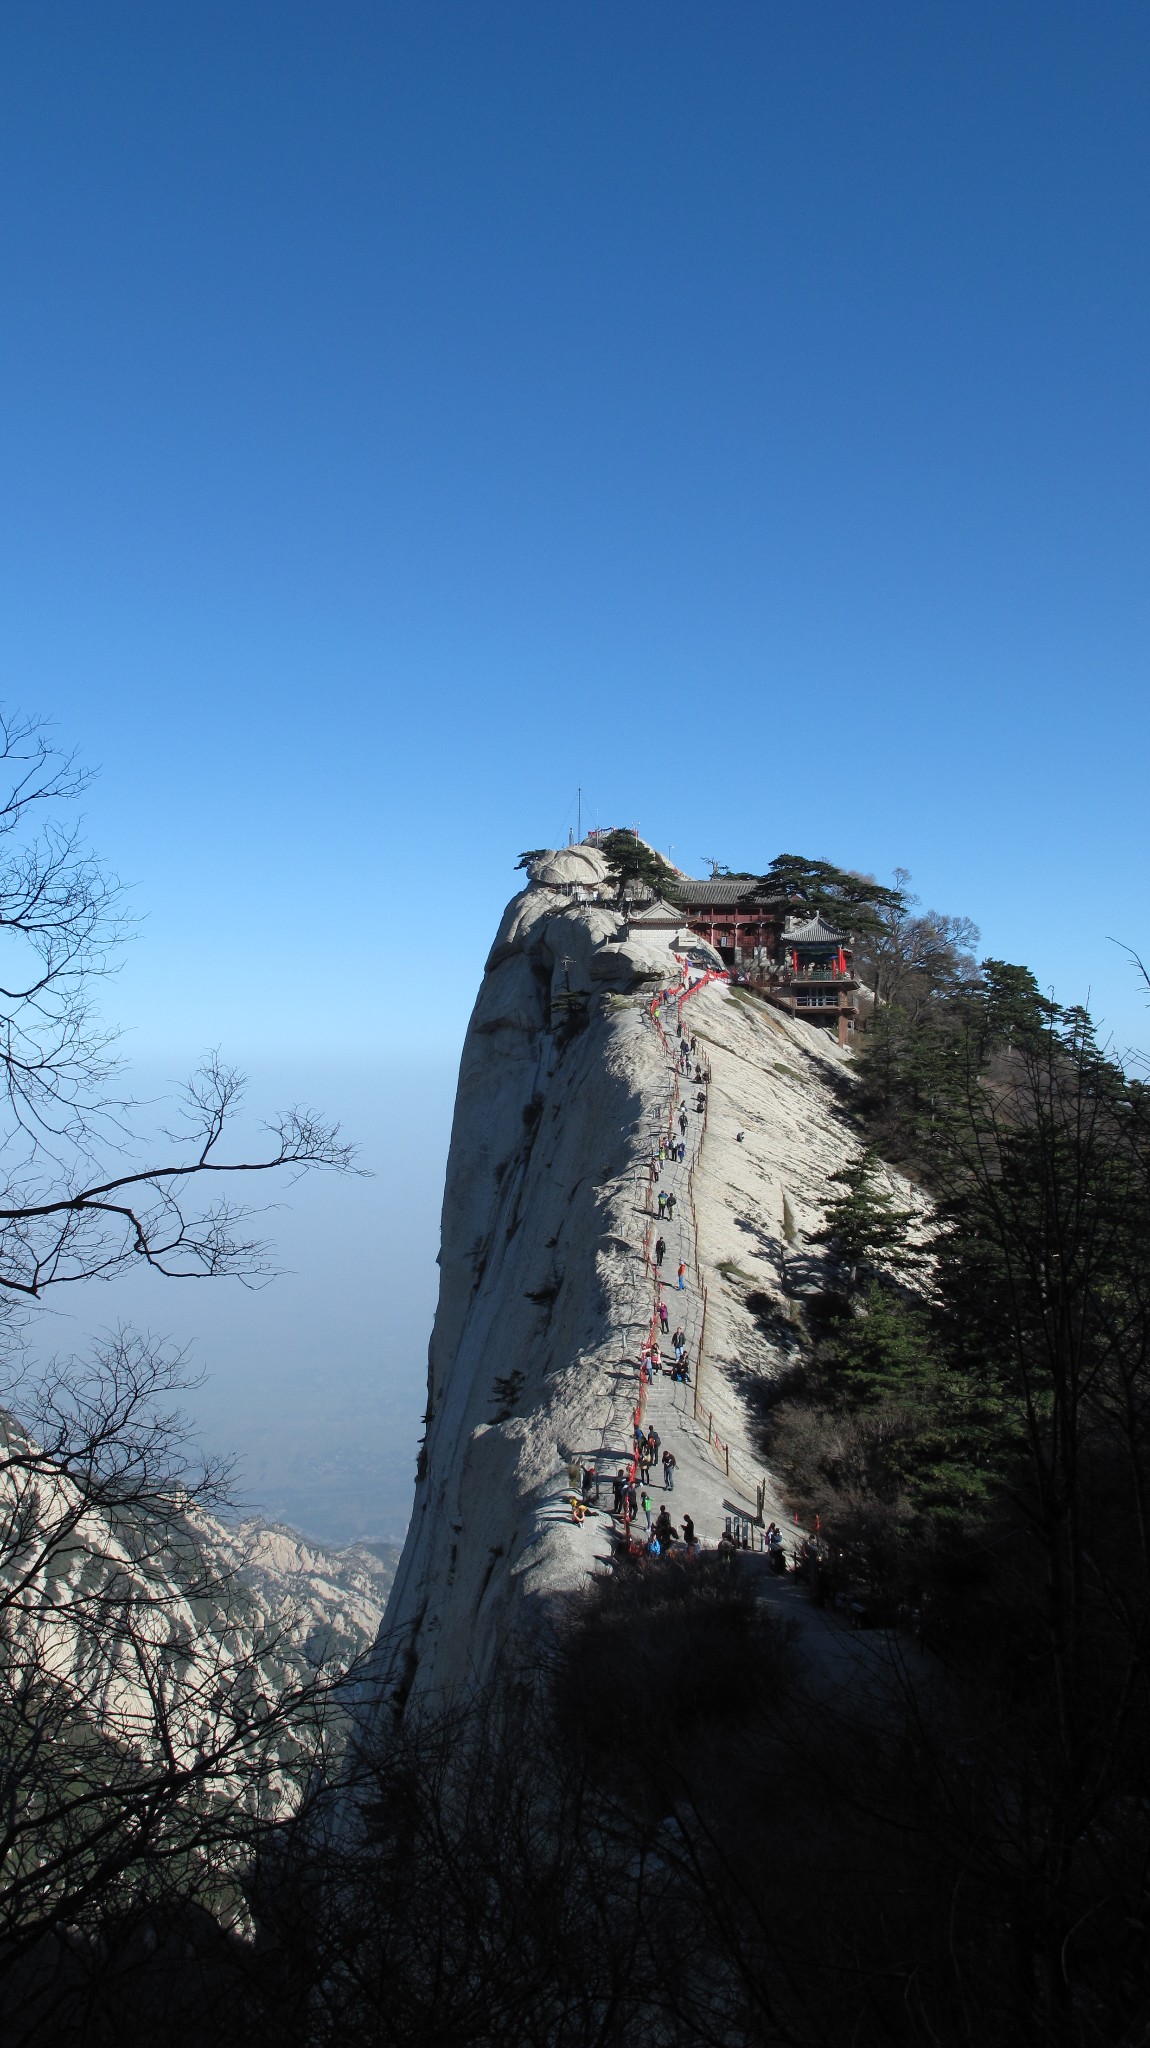
[[[227,1921],[260,1841],[325,1774],[344,1673],[309,1665],[221,1563],[172,1397],[119,1337],[0,1425],[0,1999],[43,2028],[108,1921],[178,1896]],[[51,1968],[49,1968],[51,1964]],[[68,1972],[65,1972],[68,1976]],[[4,1991],[2,1987],[8,1987]],[[16,1991],[12,1991],[16,1987]]]

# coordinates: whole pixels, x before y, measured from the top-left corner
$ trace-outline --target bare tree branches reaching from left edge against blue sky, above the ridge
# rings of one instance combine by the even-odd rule
[[[266,1268],[231,1190],[250,1176],[348,1169],[352,1147],[307,1108],[233,1157],[244,1075],[209,1055],[168,1155],[141,1161],[96,995],[125,938],[123,893],[68,811],[88,776],[37,719],[0,717],[0,1303],[147,1264],[172,1278]]]

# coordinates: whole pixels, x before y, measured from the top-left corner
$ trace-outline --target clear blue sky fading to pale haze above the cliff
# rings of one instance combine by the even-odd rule
[[[1146,1042],[1142,0],[10,0],[0,55],[0,688],[102,768],[141,1069],[221,1042],[377,1167],[258,1319],[156,1303],[252,1473],[352,1360],[409,1468],[577,786],[694,872],[906,866]]]

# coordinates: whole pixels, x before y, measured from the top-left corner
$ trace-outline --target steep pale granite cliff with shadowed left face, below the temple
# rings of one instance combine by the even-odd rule
[[[675,1450],[671,1505],[704,1540],[753,1513],[759,1489],[767,1513],[780,1505],[755,1456],[753,1395],[786,1364],[810,1278],[804,1233],[855,1151],[841,1106],[851,1055],[712,983],[681,1010],[710,1069],[702,1118],[651,1018],[683,936],[628,934],[593,899],[600,881],[589,846],[534,860],[467,1032],[426,1442],[372,1675],[385,1714],[489,1679],[512,1638],[530,1655],[548,1602],[610,1561],[610,1513],[571,1522],[569,1464],[610,1475],[630,1442],[657,1298],[649,1161],[679,1098],[688,1157],[661,1180],[677,1194],[663,1274],[696,1378],[657,1378],[649,1419]],[[708,948],[690,946],[704,965]],[[665,1024],[675,1047],[673,1006]]]

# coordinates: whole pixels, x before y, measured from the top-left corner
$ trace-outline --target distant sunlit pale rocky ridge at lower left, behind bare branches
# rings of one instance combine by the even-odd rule
[[[23,1686],[39,1673],[78,1726],[127,1753],[164,1745],[186,1763],[205,1712],[276,1700],[317,1663],[346,1669],[379,1632],[391,1571],[385,1546],[327,1550],[282,1524],[227,1524],[192,1503],[147,1520],[131,1505],[94,1505],[0,1415],[8,1704],[23,1710]],[[270,1792],[289,1800],[291,1778],[272,1774]]]

